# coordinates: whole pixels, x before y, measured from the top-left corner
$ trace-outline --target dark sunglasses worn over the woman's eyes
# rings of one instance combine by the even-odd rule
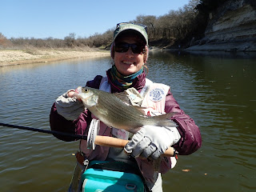
[[[129,48],[134,54],[145,54],[145,46],[139,44],[129,44],[126,42],[119,42],[114,45],[114,51],[118,53],[126,53]]]

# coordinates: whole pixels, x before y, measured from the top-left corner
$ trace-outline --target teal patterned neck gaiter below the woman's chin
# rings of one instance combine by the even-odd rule
[[[137,73],[131,74],[129,76],[123,76],[120,74],[115,66],[112,66],[110,70],[110,80],[114,82],[115,86],[118,86],[121,90],[126,90],[133,84],[134,78],[136,78],[139,74],[143,73],[143,66],[141,70],[138,70]]]

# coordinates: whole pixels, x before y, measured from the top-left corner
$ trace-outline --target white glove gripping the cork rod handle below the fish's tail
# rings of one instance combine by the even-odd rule
[[[181,138],[176,127],[143,126],[124,148],[134,158],[157,159]]]

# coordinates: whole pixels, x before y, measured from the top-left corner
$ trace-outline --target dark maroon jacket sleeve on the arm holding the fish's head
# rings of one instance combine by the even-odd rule
[[[102,80],[102,76],[98,75],[94,78],[94,80],[87,82],[86,86],[90,86],[93,88],[98,89],[98,86]],[[58,114],[58,111],[54,105],[51,107],[50,110],[50,129],[56,130],[60,132],[64,132],[67,134],[80,134],[80,135],[86,135],[87,133],[87,126],[90,125],[91,122],[91,113],[89,110],[85,110],[80,114],[78,119],[75,119],[74,121],[66,120],[66,118],[63,118],[62,115]],[[70,138],[68,136],[61,136],[54,134],[54,137],[61,139],[65,142],[71,142],[74,141],[75,138]]]

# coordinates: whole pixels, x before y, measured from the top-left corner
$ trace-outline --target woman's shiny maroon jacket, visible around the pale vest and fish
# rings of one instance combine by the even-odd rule
[[[106,72],[109,77],[110,70]],[[92,88],[99,88],[102,76],[98,75],[94,80],[86,83],[86,86]],[[139,92],[145,86],[146,74],[142,73],[135,78],[133,87]],[[114,86],[113,82],[110,82],[112,93],[120,92],[117,86]],[[181,134],[181,139],[178,143],[174,145],[174,148],[178,151],[178,154],[192,154],[194,151],[198,150],[202,144],[202,138],[198,126],[195,125],[194,120],[190,118],[183,110],[180,109],[178,102],[174,99],[170,90],[166,96],[166,113],[176,112],[171,118],[174,122],[178,124],[178,131]],[[51,130],[62,131],[70,134],[87,134],[87,126],[90,125],[91,114],[89,110],[85,110],[80,114],[79,118],[74,121],[66,120],[61,115],[58,114],[56,110],[55,103],[50,111],[50,127]],[[63,141],[70,142],[74,138],[69,138],[67,136],[54,135]]]

